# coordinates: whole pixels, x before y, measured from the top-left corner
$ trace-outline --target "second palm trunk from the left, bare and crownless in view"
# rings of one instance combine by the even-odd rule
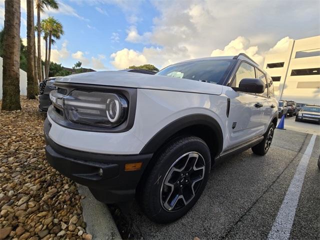
[[[34,72],[34,15],[33,0],[26,1],[26,96],[35,99],[38,93],[38,83]]]

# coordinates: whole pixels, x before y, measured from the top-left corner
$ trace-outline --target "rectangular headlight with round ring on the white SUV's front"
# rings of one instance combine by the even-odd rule
[[[73,90],[63,97],[63,108],[72,122],[113,127],[125,120],[128,103],[115,93]]]

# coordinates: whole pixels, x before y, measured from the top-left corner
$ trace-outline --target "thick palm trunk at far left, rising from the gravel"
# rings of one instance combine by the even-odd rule
[[[20,104],[20,1],[4,1],[2,110],[19,110]]]

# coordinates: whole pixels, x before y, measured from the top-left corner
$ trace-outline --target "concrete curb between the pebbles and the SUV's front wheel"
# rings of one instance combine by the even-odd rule
[[[83,221],[86,232],[97,240],[122,239],[106,204],[96,200],[90,190],[83,185],[76,184],[81,199]]]

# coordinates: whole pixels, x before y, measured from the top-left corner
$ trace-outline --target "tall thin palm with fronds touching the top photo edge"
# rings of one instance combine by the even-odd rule
[[[37,56],[37,68],[38,68],[38,78],[41,81],[42,78],[42,69],[41,69],[41,12],[44,11],[44,6],[46,8],[53,8],[58,9],[59,4],[56,0],[35,0],[35,7],[36,7],[36,31],[37,31],[37,49],[38,49],[38,56]]]

